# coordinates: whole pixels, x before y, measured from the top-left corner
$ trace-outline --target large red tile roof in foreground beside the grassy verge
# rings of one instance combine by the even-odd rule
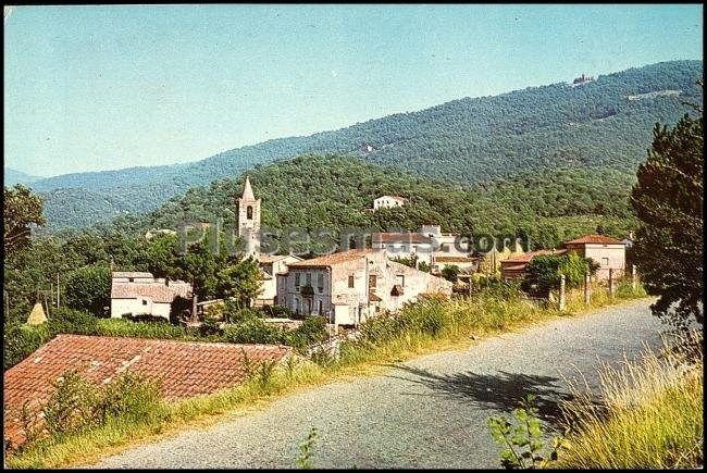
[[[277,345],[235,345],[149,338],[58,335],[4,373],[5,437],[24,441],[20,411],[25,401],[37,412],[67,370],[101,385],[129,369],[160,379],[165,400],[234,386],[246,378],[244,351],[252,361],[280,361],[292,349]]]

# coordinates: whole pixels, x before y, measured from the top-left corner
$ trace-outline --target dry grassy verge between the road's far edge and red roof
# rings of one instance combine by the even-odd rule
[[[177,403],[163,402],[159,415],[144,419],[111,419],[109,422],[63,436],[38,440],[7,458],[9,468],[58,468],[92,462],[129,445],[173,435],[184,427],[208,425],[224,414],[239,414],[266,406],[278,397],[308,387],[365,375],[398,362],[442,349],[462,348],[489,335],[556,318],[574,315],[599,307],[645,297],[620,285],[615,298],[595,290],[585,307],[582,294],[568,295],[567,310],[536,306],[512,288],[485,290],[468,299],[427,299],[406,307],[398,316],[381,315],[361,327],[355,343],[342,347],[340,357],[317,357],[317,362],[293,361],[269,372],[257,371],[245,384]]]

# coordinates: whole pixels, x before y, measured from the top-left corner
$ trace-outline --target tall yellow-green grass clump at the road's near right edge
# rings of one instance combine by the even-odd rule
[[[574,387],[562,466],[695,468],[703,461],[703,358],[689,364],[647,350],[638,362],[600,370],[601,403]]]

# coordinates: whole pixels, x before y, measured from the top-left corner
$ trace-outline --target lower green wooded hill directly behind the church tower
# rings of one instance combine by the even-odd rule
[[[369,227],[417,231],[425,223],[443,232],[530,235],[534,246],[553,247],[601,225],[623,237],[634,225],[628,196],[634,176],[603,167],[524,172],[510,179],[466,186],[434,181],[339,155],[301,155],[258,166],[248,174],[262,199],[262,225],[276,229]],[[233,226],[245,178],[220,179],[170,199],[147,215],[100,225],[129,229],[175,229],[183,221],[223,219]],[[402,208],[371,212],[381,195],[408,199]]]

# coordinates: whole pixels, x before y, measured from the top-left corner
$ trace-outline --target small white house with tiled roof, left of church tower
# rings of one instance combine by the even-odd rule
[[[111,318],[156,315],[170,319],[177,297],[191,298],[191,285],[154,278],[152,273],[114,272],[111,282]]]

